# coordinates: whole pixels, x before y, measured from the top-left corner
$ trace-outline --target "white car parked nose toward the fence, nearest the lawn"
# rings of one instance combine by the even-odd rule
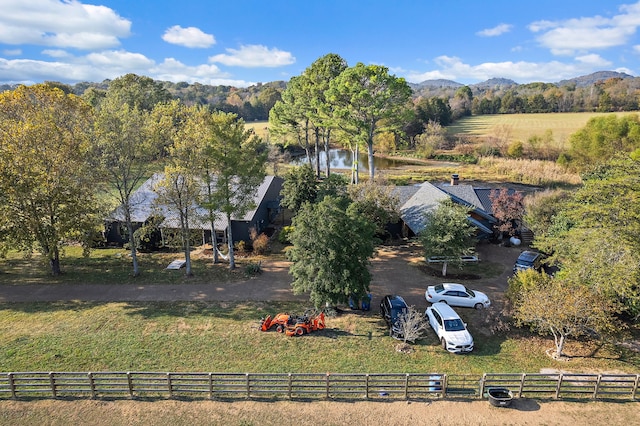
[[[451,306],[442,302],[434,303],[427,308],[425,315],[444,350],[456,354],[473,350],[473,337]]]

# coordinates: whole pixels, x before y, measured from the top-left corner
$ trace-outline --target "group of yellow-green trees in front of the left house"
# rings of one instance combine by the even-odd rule
[[[230,223],[251,209],[265,176],[262,141],[236,114],[172,100],[148,77],[128,74],[105,93],[83,96],[48,84],[0,93],[0,254],[38,249],[51,273],[60,274],[64,246],[77,242],[88,253],[108,213],[120,206],[138,275],[132,196],[163,169],[154,190],[179,220],[190,274],[196,207],[207,209],[212,235],[218,215]]]

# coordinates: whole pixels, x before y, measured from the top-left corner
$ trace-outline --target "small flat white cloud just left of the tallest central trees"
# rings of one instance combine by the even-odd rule
[[[281,67],[295,63],[290,52],[276,48],[269,49],[261,45],[240,46],[240,49],[226,49],[228,54],[211,56],[209,62],[221,63],[228,66],[257,68]]]

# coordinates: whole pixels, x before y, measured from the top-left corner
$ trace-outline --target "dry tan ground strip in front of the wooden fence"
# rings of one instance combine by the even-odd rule
[[[0,401],[2,425],[628,425],[636,402]]]

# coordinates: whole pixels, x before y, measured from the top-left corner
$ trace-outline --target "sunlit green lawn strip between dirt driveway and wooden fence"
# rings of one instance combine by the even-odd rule
[[[261,317],[301,313],[294,303],[0,304],[0,371],[212,371],[482,374],[571,371],[637,373],[640,361],[603,347],[591,358],[553,361],[548,339],[488,336],[470,323],[476,350],[443,351],[431,330],[412,353],[395,351],[376,312],[343,313],[303,337],[261,332]],[[569,345],[583,355],[585,349]],[[586,352],[590,353],[587,348]]]

